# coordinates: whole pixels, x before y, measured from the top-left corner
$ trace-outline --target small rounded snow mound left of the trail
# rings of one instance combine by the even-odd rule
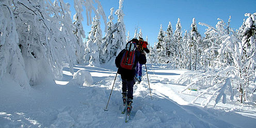
[[[72,82],[79,86],[91,86],[93,84],[93,79],[91,73],[82,69],[78,70],[72,79]]]

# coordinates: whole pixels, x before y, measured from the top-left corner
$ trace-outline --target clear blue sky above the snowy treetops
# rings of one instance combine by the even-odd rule
[[[110,14],[110,8],[114,7],[116,11],[119,7],[119,0],[99,0],[103,6],[106,17]],[[73,0],[66,0],[73,7]],[[124,24],[127,31],[130,31],[130,37],[134,36],[135,27],[141,29],[142,36],[145,39],[148,36],[148,42],[152,46],[157,41],[157,35],[160,25],[163,25],[163,30],[167,29],[169,21],[172,24],[173,30],[177,24],[178,18],[181,19],[183,33],[184,29],[189,30],[193,18],[196,19],[199,33],[204,35],[206,27],[201,26],[198,22],[203,22],[211,26],[215,26],[218,22],[217,18],[228,22],[231,15],[232,28],[238,29],[243,20],[246,18],[245,13],[256,12],[255,0],[124,0],[123,12]],[[72,14],[74,9],[71,8]],[[84,13],[84,18],[86,16]],[[108,19],[107,19],[108,20]],[[114,22],[116,22],[115,17]],[[102,30],[104,23],[102,22]],[[84,21],[86,33],[90,31],[90,26]],[[103,31],[104,35],[104,31]],[[88,36],[88,34],[86,34]]]

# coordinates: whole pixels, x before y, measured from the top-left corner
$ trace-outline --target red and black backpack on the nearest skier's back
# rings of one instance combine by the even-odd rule
[[[123,57],[121,59],[121,67],[124,69],[133,69],[134,61],[135,61],[135,42],[128,42],[125,47],[125,52],[123,53]]]

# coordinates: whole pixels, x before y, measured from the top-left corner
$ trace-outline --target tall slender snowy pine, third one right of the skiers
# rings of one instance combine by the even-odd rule
[[[173,60],[178,68],[185,68],[182,60],[183,47],[182,47],[182,26],[181,20],[178,18],[176,29],[173,34]]]

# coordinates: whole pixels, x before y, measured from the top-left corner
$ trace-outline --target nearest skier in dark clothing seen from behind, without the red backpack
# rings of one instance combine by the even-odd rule
[[[131,41],[135,45],[139,42],[137,39],[132,39]],[[128,43],[127,43],[128,44]],[[127,44],[126,48],[123,49],[118,56],[116,57],[115,63],[116,67],[118,68],[117,73],[121,74],[121,79],[122,79],[122,99],[123,103],[127,104],[127,112],[131,111],[132,109],[132,100],[133,100],[133,86],[135,84],[135,73],[136,73],[136,63],[139,61],[139,59],[143,60],[146,59],[141,56],[140,52],[137,51],[137,49],[134,49],[134,56],[135,56],[135,61],[133,63],[133,66],[131,69],[125,69],[121,65],[121,61],[123,60],[123,57],[125,56],[125,51],[127,49]],[[127,101],[126,101],[127,98]]]

